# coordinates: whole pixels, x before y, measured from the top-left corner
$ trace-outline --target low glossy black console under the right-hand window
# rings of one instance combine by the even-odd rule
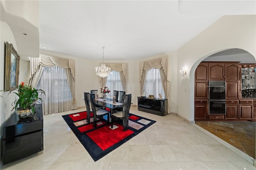
[[[165,116],[168,113],[168,99],[137,97],[138,98],[138,110],[155,115]]]

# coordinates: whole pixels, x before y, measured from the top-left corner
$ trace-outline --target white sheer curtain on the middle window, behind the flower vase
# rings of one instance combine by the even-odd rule
[[[114,90],[124,91],[122,87],[122,82],[120,79],[120,72],[111,71],[110,75],[108,75],[106,86],[110,89],[110,93],[107,94],[108,98],[112,98],[114,95]],[[118,97],[119,98],[119,97]]]

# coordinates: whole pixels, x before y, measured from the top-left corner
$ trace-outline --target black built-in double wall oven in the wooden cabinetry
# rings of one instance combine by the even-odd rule
[[[226,81],[209,81],[208,114],[226,114]]]

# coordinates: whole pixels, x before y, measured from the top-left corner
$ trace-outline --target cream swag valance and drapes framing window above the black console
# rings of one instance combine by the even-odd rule
[[[169,62],[168,62],[167,56],[140,62],[140,77],[139,77],[139,79],[140,79],[140,95],[142,95],[142,93],[144,91],[146,71],[148,71],[152,68],[160,69],[160,76],[161,76],[161,81],[162,81],[162,85],[163,85],[163,89],[164,89],[165,98],[169,100],[169,92],[170,92],[170,85],[169,85],[169,80],[168,80]],[[168,102],[168,113],[170,113],[169,102]]]

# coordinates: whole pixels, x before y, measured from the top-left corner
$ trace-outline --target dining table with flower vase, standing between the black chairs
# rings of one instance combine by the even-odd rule
[[[118,102],[113,103],[113,99],[107,98],[106,101],[103,100],[103,98],[95,98],[95,105],[96,107],[103,107],[110,109],[110,117],[113,113],[113,111],[116,108],[122,107],[123,103],[122,101],[118,100]]]

